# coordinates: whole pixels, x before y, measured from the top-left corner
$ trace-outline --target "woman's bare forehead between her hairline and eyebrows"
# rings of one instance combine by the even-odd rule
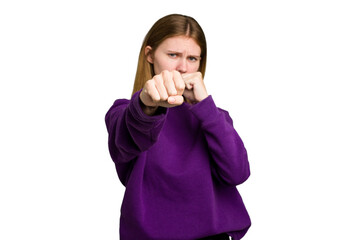
[[[200,55],[201,48],[191,37],[176,36],[165,39],[159,46],[164,50],[175,52],[187,52],[189,54]]]

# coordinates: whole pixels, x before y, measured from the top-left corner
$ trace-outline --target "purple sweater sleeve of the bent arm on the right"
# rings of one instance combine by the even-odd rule
[[[250,176],[247,151],[228,112],[217,108],[212,96],[193,105],[190,110],[201,122],[214,160],[215,176],[231,186],[246,181]]]

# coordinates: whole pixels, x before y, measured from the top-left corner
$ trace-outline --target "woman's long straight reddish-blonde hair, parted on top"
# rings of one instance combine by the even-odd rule
[[[201,49],[199,71],[205,76],[206,39],[198,22],[189,16],[170,14],[159,19],[146,34],[139,53],[138,66],[132,95],[143,88],[145,82],[154,77],[154,67],[146,60],[145,48],[150,46],[155,52],[157,47],[167,38],[187,36],[195,40]]]

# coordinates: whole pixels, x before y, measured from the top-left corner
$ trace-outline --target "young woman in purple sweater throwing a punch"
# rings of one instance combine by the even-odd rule
[[[207,93],[205,66],[199,24],[165,16],[144,39],[132,98],[106,114],[126,187],[121,240],[239,240],[250,227],[236,188],[250,175],[246,149]]]

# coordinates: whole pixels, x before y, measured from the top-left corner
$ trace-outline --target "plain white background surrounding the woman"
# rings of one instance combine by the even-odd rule
[[[358,1],[0,3],[0,239],[118,239],[104,116],[160,17],[195,17],[245,142],[244,239],[360,239]]]

